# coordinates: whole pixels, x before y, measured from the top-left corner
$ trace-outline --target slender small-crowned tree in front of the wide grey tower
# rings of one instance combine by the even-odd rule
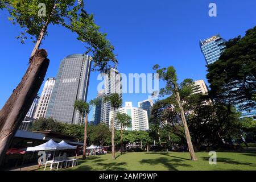
[[[82,159],[85,159],[86,158],[87,124],[88,124],[88,114],[90,112],[90,107],[88,103],[81,100],[75,101],[74,107],[82,115],[81,119],[85,119],[84,120],[84,146],[82,148]]]

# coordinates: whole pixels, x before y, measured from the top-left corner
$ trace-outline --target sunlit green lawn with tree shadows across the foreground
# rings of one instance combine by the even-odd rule
[[[76,167],[63,170],[256,170],[256,152],[217,152],[217,164],[210,165],[208,152],[197,152],[197,162],[188,152],[131,152],[112,160],[110,154],[89,156]]]

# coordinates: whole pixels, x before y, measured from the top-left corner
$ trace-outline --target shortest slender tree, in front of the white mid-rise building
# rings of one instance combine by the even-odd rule
[[[120,128],[120,134],[121,134],[121,155],[123,154],[123,131],[127,127],[131,127],[131,117],[125,113],[117,113],[117,125],[119,125]]]

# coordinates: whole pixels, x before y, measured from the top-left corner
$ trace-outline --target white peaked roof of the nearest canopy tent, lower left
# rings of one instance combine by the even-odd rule
[[[40,144],[35,147],[27,147],[27,151],[40,151],[40,150],[65,150],[68,147],[63,147],[59,143],[54,142],[50,139],[48,142]]]

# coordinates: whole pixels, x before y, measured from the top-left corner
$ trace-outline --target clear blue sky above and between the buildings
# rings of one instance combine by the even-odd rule
[[[217,4],[217,17],[208,15],[210,2]],[[244,35],[256,25],[255,0],[86,0],[85,3],[88,13],[94,14],[101,31],[108,34],[115,46],[119,72],[152,73],[154,64],[173,65],[180,81],[184,78],[207,81],[200,39],[220,34],[228,40]],[[6,11],[0,11],[0,108],[20,82],[34,46],[30,40],[20,44],[15,39],[20,28],[11,24],[7,16]],[[48,32],[41,46],[47,49],[51,60],[46,78],[56,76],[63,57],[85,52],[76,35],[65,28],[49,26]],[[88,100],[97,96],[100,82],[97,75],[91,73]],[[147,96],[124,94],[123,101],[133,101],[137,106]]]

